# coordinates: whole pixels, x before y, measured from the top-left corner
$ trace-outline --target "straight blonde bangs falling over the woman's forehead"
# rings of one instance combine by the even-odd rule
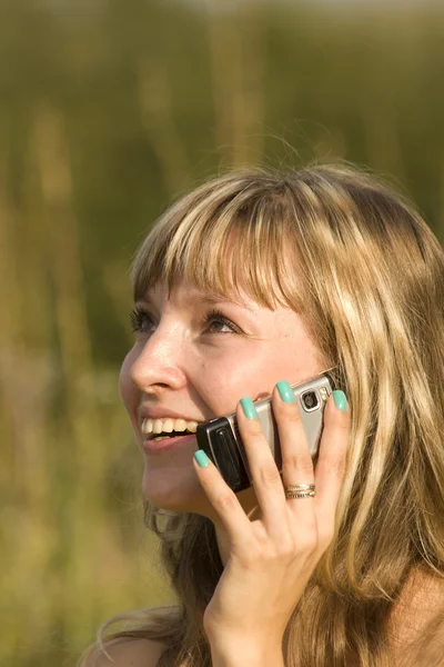
[[[185,280],[230,300],[242,302],[242,290],[266,308],[302,311],[294,220],[291,230],[282,182],[281,191],[273,182],[274,191],[264,192],[258,178],[249,180],[231,188],[224,179],[211,181],[158,220],[133,261],[134,300],[158,281],[170,297]]]

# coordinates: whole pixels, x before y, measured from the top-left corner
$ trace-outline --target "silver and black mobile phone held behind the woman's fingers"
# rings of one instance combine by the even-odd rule
[[[335,389],[334,375],[331,372],[333,370],[325,370],[309,380],[291,386],[313,459],[317,455],[321,439],[324,407],[329,396]],[[281,472],[282,454],[278,424],[271,405],[271,396],[254,401],[254,407],[278,469]],[[216,417],[204,424],[199,424],[196,439],[199,448],[203,449],[210,460],[216,466],[223,479],[233,491],[242,491],[252,486],[253,480],[249,460],[239,432],[235,414]]]

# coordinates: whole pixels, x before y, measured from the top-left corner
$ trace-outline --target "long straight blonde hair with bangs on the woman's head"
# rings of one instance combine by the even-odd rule
[[[285,664],[389,664],[407,578],[444,577],[442,247],[403,196],[355,168],[248,169],[160,218],[133,262],[134,297],[182,277],[229,297],[242,282],[259,303],[300,312],[337,368],[352,425],[336,534],[287,625]],[[158,638],[159,667],[210,666],[202,616],[223,570],[214,527],[149,502],[145,524],[179,604],[128,616],[138,627],[107,640]]]

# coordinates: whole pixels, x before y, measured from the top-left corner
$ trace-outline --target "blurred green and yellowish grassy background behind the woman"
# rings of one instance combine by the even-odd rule
[[[0,664],[72,667],[171,599],[118,392],[129,266],[220,169],[345,159],[444,240],[444,8],[0,3]]]

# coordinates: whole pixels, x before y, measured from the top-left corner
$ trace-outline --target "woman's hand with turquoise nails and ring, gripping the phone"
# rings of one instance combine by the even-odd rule
[[[313,470],[296,402],[284,402],[274,387],[272,409],[282,449],[282,480],[259,418],[249,419],[241,402],[236,408],[261,519],[249,519],[211,461],[201,468],[193,459],[230,541],[229,558],[203,617],[210,643],[218,646],[251,640],[280,647],[290,617],[334,535],[350,410],[340,410],[333,396],[329,398]],[[284,485],[313,482],[315,497],[285,497]]]

